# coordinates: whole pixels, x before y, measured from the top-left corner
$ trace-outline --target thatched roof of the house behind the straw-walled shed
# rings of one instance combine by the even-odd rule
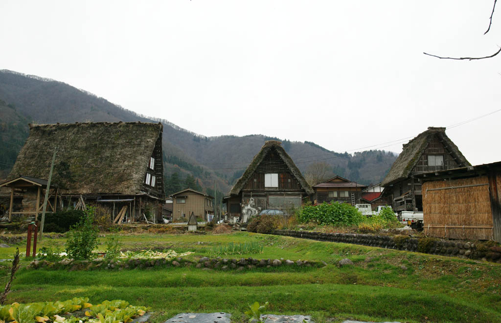
[[[443,145],[449,150],[452,157],[460,166],[470,165],[454,142],[445,134],[445,127],[428,127],[426,131],[421,132],[414,139],[403,145],[402,153],[398,155],[397,160],[391,166],[388,175],[383,179],[381,185],[388,186],[407,178],[435,135],[442,141]]]

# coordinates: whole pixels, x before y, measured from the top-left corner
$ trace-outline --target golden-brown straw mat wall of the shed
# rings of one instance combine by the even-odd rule
[[[491,239],[488,183],[487,176],[423,183],[424,232],[437,237]]]

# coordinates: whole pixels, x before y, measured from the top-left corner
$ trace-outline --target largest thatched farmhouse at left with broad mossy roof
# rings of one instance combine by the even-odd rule
[[[121,212],[128,221],[148,216],[156,222],[165,195],[162,129],[161,123],[144,122],[30,124],[30,135],[2,185],[23,177],[46,182],[56,150],[54,209],[91,203],[113,219]],[[24,201],[36,201],[32,188],[12,189]]]

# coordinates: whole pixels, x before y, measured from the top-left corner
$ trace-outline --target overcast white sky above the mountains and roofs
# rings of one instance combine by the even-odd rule
[[[343,152],[501,108],[493,0],[0,2],[0,68],[64,81],[212,136]],[[501,4],[499,4],[501,5]],[[501,160],[501,112],[447,130]],[[362,149],[364,150],[364,149]]]

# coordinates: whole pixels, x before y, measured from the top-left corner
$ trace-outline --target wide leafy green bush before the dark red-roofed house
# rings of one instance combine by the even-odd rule
[[[358,225],[366,219],[364,215],[354,206],[348,203],[326,203],[320,205],[305,206],[299,212],[299,222],[314,221],[319,224],[330,224],[334,226]]]

